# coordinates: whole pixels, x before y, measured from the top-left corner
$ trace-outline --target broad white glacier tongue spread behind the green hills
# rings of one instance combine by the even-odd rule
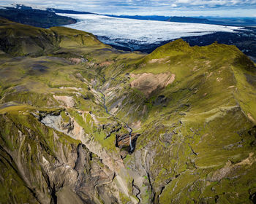
[[[136,50],[142,44],[160,44],[187,36],[202,36],[214,32],[236,32],[241,27],[199,23],[174,23],[155,20],[135,20],[105,15],[60,14],[78,20],[67,25],[94,34],[105,44],[120,45]]]

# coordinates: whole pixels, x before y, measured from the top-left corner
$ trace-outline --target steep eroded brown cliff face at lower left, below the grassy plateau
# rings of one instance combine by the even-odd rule
[[[3,115],[0,117],[0,125],[3,128],[1,139],[5,141],[1,140],[1,157],[7,161],[5,166],[1,162],[1,169],[14,170],[15,173],[10,176],[10,181],[15,178],[24,182],[31,192],[27,193],[24,199],[35,197],[39,203],[67,203],[67,200],[70,202],[76,200],[76,203],[99,203],[102,199],[105,203],[121,202],[118,186],[115,183],[118,179],[121,181],[121,178],[113,181],[116,173],[104,165],[97,154],[90,152],[86,145],[72,139],[69,139],[69,142],[65,141],[64,138],[67,136],[59,130],[50,133],[50,127],[40,125],[32,115],[28,115],[27,119],[33,121],[34,125],[37,125],[36,128],[40,128],[39,130],[12,121],[11,117]],[[45,123],[48,126],[50,121],[54,123],[58,120],[58,116],[45,117],[50,120],[44,118],[41,122],[48,120],[49,123]],[[3,126],[4,124],[8,124],[8,127]],[[56,129],[56,124],[51,126]],[[10,127],[12,128],[10,137],[6,135],[3,137],[2,131]],[[13,138],[16,140],[13,141]],[[12,144],[12,148],[8,143]],[[9,155],[9,158],[4,154]],[[22,184],[15,184],[13,187],[17,185],[22,187]],[[11,186],[2,193],[8,195],[5,200],[15,203],[15,196],[20,196],[19,192],[13,189],[13,194],[10,194],[10,189]]]

